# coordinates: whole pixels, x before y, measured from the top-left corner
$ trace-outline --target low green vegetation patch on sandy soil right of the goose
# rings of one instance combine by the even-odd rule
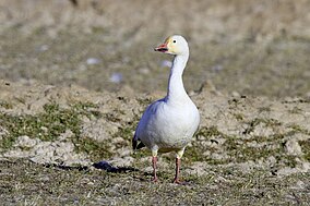
[[[261,121],[257,119],[252,122],[252,125],[257,125],[260,122],[270,125],[279,124],[279,122],[273,120]],[[192,146],[187,148],[186,154],[190,155],[186,155],[186,157],[190,158],[190,161],[205,161],[208,165],[225,165],[227,162],[246,162],[250,160],[257,161],[258,159],[274,157],[279,163],[296,167],[296,157],[286,155],[283,142],[285,136],[285,134],[274,134],[271,136],[242,138],[239,136],[225,135],[220,133],[216,126],[202,128],[194,136]],[[217,138],[222,138],[220,143]],[[206,144],[206,142],[208,143]],[[211,155],[205,154],[205,152],[210,152]],[[218,154],[219,158],[213,158],[212,154]]]

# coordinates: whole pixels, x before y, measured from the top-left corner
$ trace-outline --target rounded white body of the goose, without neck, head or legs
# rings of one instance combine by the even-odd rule
[[[136,137],[152,150],[180,150],[191,141],[199,124],[196,107],[190,99],[172,106],[166,98],[147,107],[136,129]]]

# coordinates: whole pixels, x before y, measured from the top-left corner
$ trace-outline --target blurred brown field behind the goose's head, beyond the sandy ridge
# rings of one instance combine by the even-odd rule
[[[0,78],[165,90],[172,34],[189,92],[310,96],[310,0],[0,0]]]

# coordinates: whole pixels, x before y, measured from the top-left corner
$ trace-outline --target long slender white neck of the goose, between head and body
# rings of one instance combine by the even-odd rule
[[[170,69],[168,82],[168,92],[166,96],[167,102],[181,102],[181,99],[188,98],[188,94],[183,86],[182,74],[187,65],[189,54],[176,56]]]

